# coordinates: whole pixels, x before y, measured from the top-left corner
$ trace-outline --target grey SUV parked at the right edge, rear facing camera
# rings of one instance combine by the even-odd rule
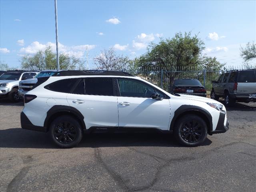
[[[234,102],[256,102],[256,70],[233,70],[212,82],[211,98],[225,99],[226,106]]]

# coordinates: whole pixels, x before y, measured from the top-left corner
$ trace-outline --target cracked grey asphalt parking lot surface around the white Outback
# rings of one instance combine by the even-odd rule
[[[0,102],[0,191],[191,192],[256,189],[256,104],[227,109],[230,129],[203,146],[170,134],[89,134],[59,149],[23,130],[23,103]]]

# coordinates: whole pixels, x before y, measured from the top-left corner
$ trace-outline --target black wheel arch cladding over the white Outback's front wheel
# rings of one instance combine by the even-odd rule
[[[208,132],[212,131],[211,114],[206,109],[200,106],[194,106],[194,105],[182,105],[174,112],[174,117],[172,118],[172,121],[170,124],[170,131],[173,131],[176,120],[178,120],[178,118],[180,118],[185,114],[199,115],[201,118],[203,118],[206,121],[206,124],[208,126]]]

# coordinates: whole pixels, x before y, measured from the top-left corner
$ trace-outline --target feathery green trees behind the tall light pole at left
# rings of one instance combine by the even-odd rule
[[[80,58],[69,56],[66,53],[59,55],[60,69],[74,70],[83,65]],[[26,55],[21,60],[22,68],[30,70],[56,69],[56,54],[48,46],[44,51],[40,50],[33,56]]]

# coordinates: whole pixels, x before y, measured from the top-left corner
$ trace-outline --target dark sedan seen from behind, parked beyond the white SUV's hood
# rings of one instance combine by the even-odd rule
[[[197,79],[174,80],[170,92],[206,97],[206,90]]]

